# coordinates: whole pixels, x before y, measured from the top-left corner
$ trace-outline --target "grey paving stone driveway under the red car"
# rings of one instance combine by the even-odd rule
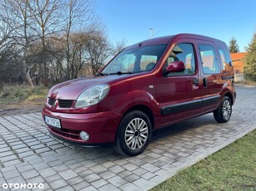
[[[158,130],[143,154],[127,158],[109,146],[55,140],[40,113],[1,117],[0,190],[25,183],[43,184],[33,190],[151,189],[256,128],[256,87],[237,86],[237,93],[227,124],[208,114]]]

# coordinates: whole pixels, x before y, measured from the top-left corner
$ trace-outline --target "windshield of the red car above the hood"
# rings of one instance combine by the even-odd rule
[[[108,63],[102,74],[123,74],[151,71],[167,45],[153,45],[124,50]]]

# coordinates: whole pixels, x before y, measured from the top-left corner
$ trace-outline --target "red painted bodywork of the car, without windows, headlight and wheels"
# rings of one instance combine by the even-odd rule
[[[196,62],[194,74],[164,77],[163,66],[168,55],[173,47],[183,42],[193,45]],[[48,125],[49,132],[59,139],[78,144],[103,144],[115,140],[123,115],[133,108],[147,110],[153,122],[153,130],[156,130],[180,120],[212,112],[218,108],[223,96],[230,96],[234,103],[236,95],[233,77],[230,77],[233,73],[221,71],[218,74],[203,74],[198,52],[198,45],[201,43],[227,48],[224,42],[193,34],[158,37],[127,48],[129,50],[167,44],[163,55],[151,71],[85,77],[53,86],[43,108],[43,119],[45,116],[59,119],[62,128],[57,129]],[[108,84],[108,96],[96,105],[75,108],[78,96],[89,87],[99,84]],[[49,104],[49,99],[55,100],[53,105]],[[60,100],[73,102],[70,107],[63,108],[59,105]],[[90,135],[89,140],[84,141],[79,137],[82,130]]]

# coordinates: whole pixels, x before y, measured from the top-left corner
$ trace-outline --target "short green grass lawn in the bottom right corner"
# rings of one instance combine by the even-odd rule
[[[256,130],[153,188],[256,190]]]

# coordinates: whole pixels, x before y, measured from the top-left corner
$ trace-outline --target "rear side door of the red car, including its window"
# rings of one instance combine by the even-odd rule
[[[201,66],[203,107],[201,112],[208,112],[218,107],[222,89],[222,81],[220,81],[220,71],[217,51],[213,42],[198,42],[198,57]]]

